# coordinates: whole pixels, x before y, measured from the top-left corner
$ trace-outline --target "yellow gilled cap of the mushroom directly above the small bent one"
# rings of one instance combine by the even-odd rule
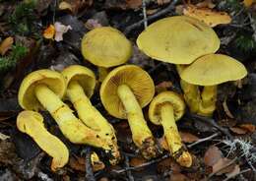
[[[24,109],[36,111],[43,109],[34,93],[34,88],[39,84],[46,85],[60,98],[66,91],[66,82],[60,73],[47,69],[34,71],[23,80],[18,93],[19,103]]]

